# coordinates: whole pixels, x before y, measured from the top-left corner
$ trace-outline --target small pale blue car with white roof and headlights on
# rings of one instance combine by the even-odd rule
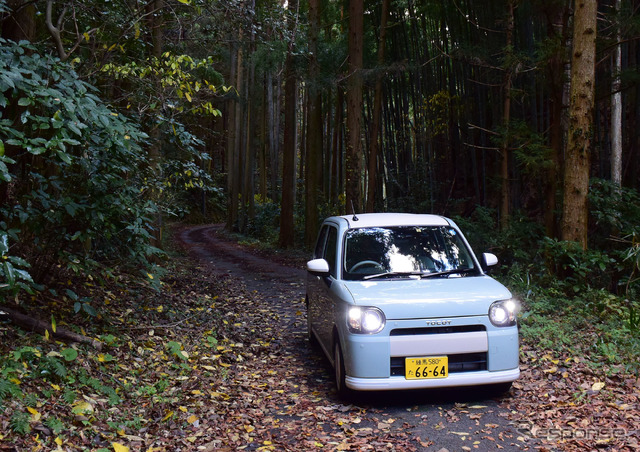
[[[456,224],[420,214],[327,218],[307,263],[307,324],[338,392],[501,384],[520,376],[517,302]]]

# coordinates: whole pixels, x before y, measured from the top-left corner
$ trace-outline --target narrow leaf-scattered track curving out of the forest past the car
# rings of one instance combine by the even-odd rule
[[[327,360],[306,340],[305,271],[227,241],[220,230],[219,226],[185,228],[178,238],[209,270],[246,287],[245,315],[235,320],[246,331],[243,346],[256,340],[251,331],[268,330],[269,341],[266,353],[251,355],[229,369],[223,388],[229,400],[224,402],[219,437],[210,438],[209,448],[200,449],[534,448],[501,408],[510,394],[496,397],[468,388],[375,392],[356,401],[340,400]]]

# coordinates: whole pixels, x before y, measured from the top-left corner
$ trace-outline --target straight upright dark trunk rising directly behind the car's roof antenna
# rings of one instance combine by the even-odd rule
[[[347,212],[362,210],[362,58],[363,0],[349,0],[349,73],[347,83]],[[353,212],[352,212],[353,211]]]

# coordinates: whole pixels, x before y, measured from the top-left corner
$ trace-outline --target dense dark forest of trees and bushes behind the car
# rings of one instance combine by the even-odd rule
[[[0,290],[153,280],[174,220],[308,248],[326,215],[409,211],[633,298],[639,8],[0,0]]]

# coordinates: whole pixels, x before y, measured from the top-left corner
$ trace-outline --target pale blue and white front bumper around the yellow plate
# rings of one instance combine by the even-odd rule
[[[518,328],[497,328],[488,317],[458,317],[445,327],[395,320],[376,335],[344,334],[346,386],[360,391],[509,383],[520,376]],[[421,326],[422,325],[422,326]],[[445,378],[406,378],[405,359],[449,357]]]

